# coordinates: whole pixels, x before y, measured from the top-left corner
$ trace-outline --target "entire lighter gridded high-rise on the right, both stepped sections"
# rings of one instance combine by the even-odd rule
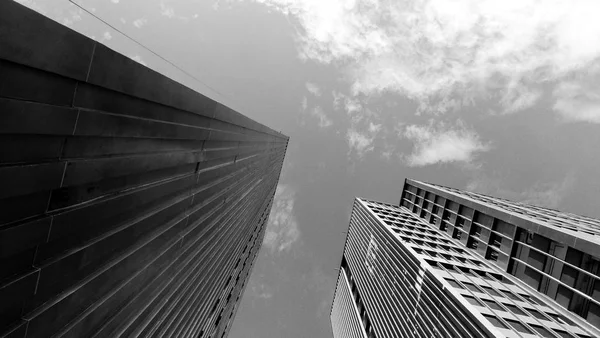
[[[598,251],[586,251],[598,241],[586,237],[579,246],[527,212],[544,222],[564,219],[556,220],[557,231],[597,229],[586,217],[412,180],[399,205],[357,198],[331,309],[334,337],[599,337],[592,306]],[[535,250],[544,239],[554,241],[547,244],[554,251]],[[576,249],[579,263],[565,259]],[[554,293],[551,283],[558,284]],[[556,296],[563,288],[587,312],[563,305]]]

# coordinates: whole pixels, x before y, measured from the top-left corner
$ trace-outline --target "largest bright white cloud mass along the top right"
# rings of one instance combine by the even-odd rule
[[[401,93],[423,111],[477,99],[523,110],[600,62],[595,0],[255,1],[295,18],[299,56],[348,69],[354,94]],[[595,122],[584,108],[577,120]]]

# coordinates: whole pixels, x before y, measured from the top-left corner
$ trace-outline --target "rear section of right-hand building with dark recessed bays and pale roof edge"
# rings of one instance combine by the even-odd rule
[[[600,329],[600,220],[414,180],[400,203]]]

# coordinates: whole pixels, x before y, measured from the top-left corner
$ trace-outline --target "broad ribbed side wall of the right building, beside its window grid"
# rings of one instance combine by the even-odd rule
[[[369,338],[493,337],[363,203],[354,203],[342,265],[347,262],[356,283],[365,308],[363,322],[372,327]],[[332,309],[344,307],[340,290]]]

